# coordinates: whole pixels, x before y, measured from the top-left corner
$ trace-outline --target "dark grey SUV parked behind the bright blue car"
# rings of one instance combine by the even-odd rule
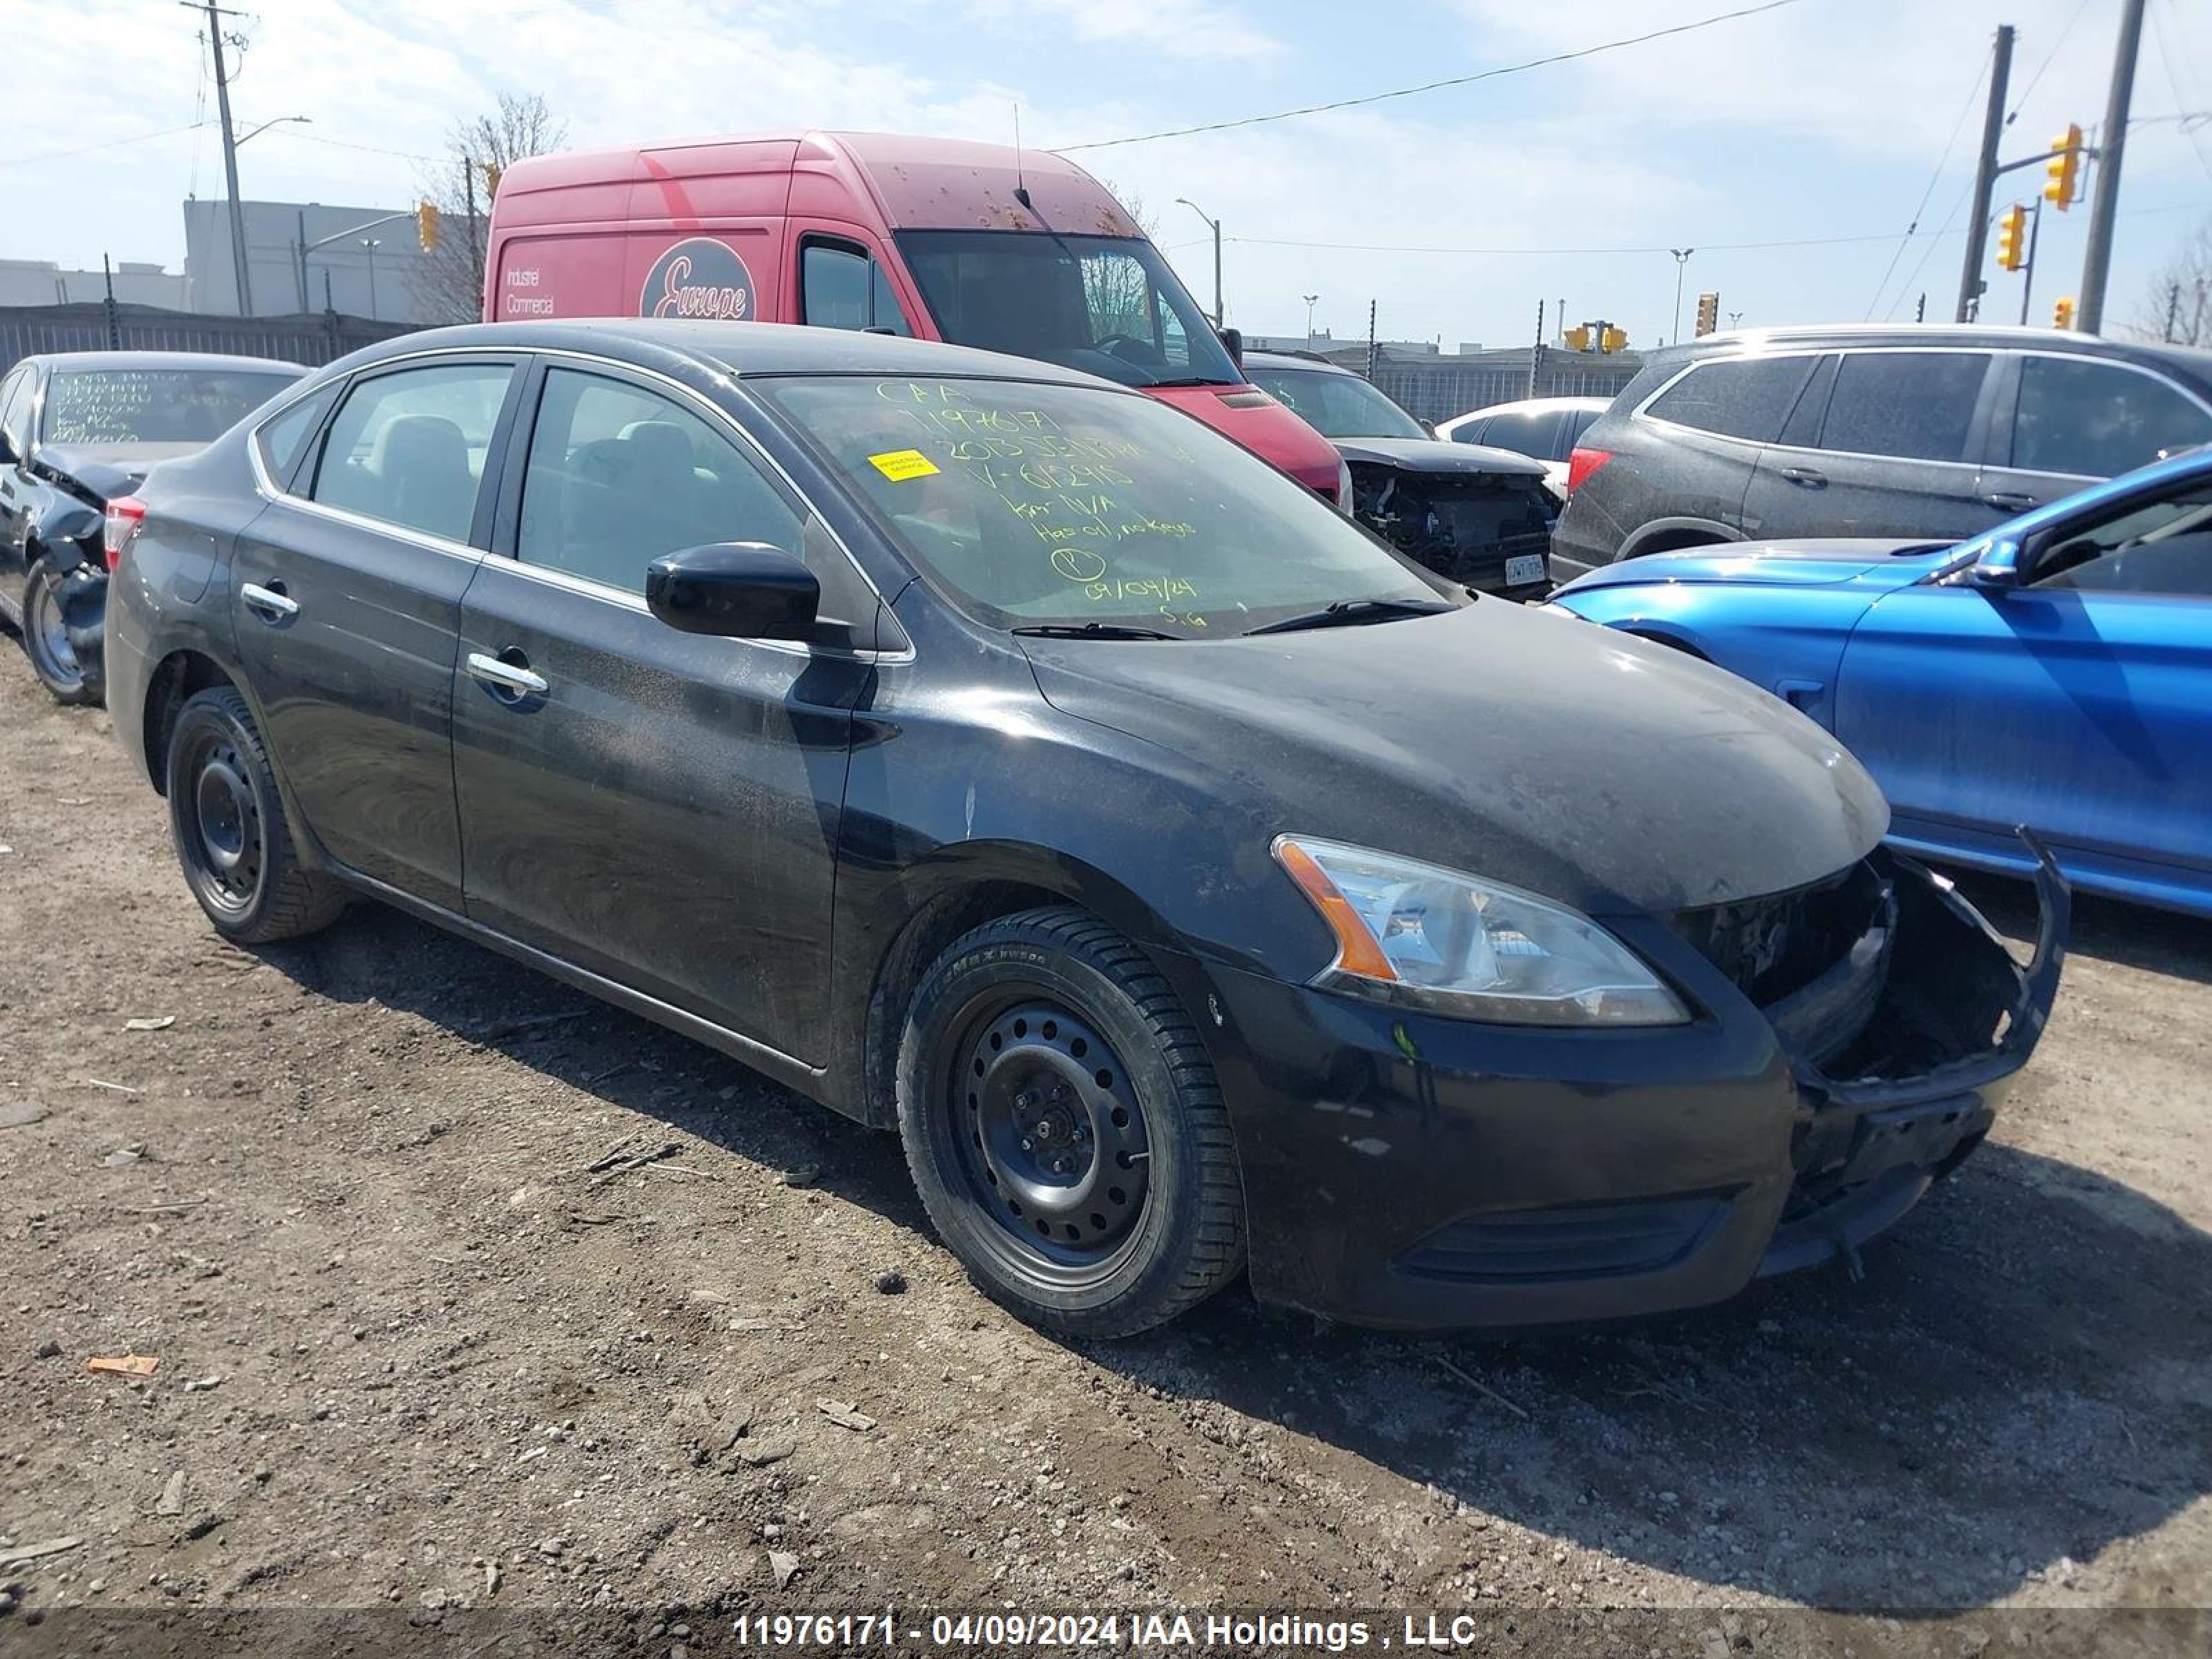
[[[1659,352],[1584,434],[1551,575],[1705,542],[1958,542],[2212,440],[2212,352],[2013,327],[1801,327]]]

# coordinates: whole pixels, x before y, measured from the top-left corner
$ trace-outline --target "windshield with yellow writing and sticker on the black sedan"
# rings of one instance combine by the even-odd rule
[[[1340,599],[1444,588],[1197,420],[1018,380],[750,380],[947,599],[1002,628],[1217,639]]]

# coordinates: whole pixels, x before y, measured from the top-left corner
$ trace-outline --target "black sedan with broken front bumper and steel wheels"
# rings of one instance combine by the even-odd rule
[[[146,489],[115,732],[239,942],[376,898],[898,1128],[1073,1334],[1590,1318],[1854,1252],[2042,1031],[1834,739],[1051,365],[361,352]]]

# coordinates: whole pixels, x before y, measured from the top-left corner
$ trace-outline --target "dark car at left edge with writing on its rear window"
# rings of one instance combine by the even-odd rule
[[[305,372],[199,352],[55,352],[0,378],[0,617],[58,701],[102,695],[108,502]]]

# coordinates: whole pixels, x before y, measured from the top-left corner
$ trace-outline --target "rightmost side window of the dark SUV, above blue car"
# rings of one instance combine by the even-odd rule
[[[2161,449],[2212,442],[2212,414],[2154,374],[2090,358],[2020,363],[2013,465],[2037,473],[2117,478]]]

